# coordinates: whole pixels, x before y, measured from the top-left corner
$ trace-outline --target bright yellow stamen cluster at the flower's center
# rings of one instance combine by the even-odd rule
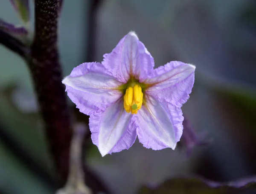
[[[140,110],[143,101],[142,89],[138,84],[134,87],[128,87],[125,91],[124,96],[124,107],[126,112],[131,114],[137,114]]]

